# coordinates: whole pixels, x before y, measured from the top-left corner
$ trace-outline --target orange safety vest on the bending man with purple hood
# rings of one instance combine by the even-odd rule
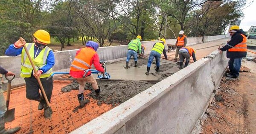
[[[70,66],[70,70],[84,71],[91,68],[92,64],[90,61],[95,53],[96,51],[91,48],[82,48],[74,58],[74,61]]]

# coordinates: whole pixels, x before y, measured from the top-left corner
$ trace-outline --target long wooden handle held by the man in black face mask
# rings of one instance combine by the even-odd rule
[[[22,38],[20,38],[20,41],[23,41]],[[23,48],[25,49],[26,54],[27,54],[27,56],[29,57],[29,61],[30,61],[31,65],[32,65],[32,67],[33,67],[34,73],[36,73],[37,71],[36,71],[36,69],[35,69],[35,65],[34,65],[32,59],[31,59],[31,57],[30,57],[30,55],[29,55],[29,51],[28,51],[28,49],[26,48],[26,45],[24,45]],[[46,96],[46,94],[45,94],[44,87],[43,87],[43,85],[42,85],[42,83],[41,83],[41,80],[40,80],[40,78],[39,78],[38,76],[36,76],[36,79],[38,80],[39,86],[40,86],[40,88],[41,88],[41,92],[42,92],[43,95],[44,95],[44,99],[45,99],[47,105],[50,107],[50,103],[49,103],[48,98],[47,98],[47,96]]]

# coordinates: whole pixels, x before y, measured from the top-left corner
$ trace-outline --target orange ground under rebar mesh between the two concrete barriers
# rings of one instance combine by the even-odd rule
[[[17,134],[67,134],[113,108],[104,103],[97,105],[97,100],[86,97],[90,90],[84,90],[84,96],[90,103],[75,110],[79,105],[78,91],[61,92],[61,88],[69,83],[54,81],[50,103],[53,111],[51,119],[44,118],[44,110],[38,110],[38,102],[26,99],[25,88],[12,91],[9,109],[15,108],[15,120],[6,123],[6,129],[19,125],[21,130]],[[6,97],[6,93],[4,95]]]

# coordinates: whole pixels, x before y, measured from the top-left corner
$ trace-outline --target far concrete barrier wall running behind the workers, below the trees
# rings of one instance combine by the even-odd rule
[[[220,37],[226,37],[226,35],[219,35],[219,36],[211,36],[211,40],[217,40]],[[203,37],[189,37],[188,38],[188,46],[202,43]],[[149,54],[151,51],[151,48],[154,43],[158,41],[145,41],[142,42],[143,45],[146,47],[145,54]],[[166,40],[166,44],[175,44],[176,39],[170,39]],[[168,46],[165,45],[166,51],[168,49]],[[127,48],[128,45],[122,45],[122,46],[110,46],[110,47],[101,47],[98,49],[97,53],[99,54],[100,60],[105,61],[118,61],[118,60],[124,60],[127,54]],[[70,68],[70,64],[73,61],[73,58],[76,54],[77,50],[70,50],[70,51],[57,51],[55,52],[55,65],[53,67],[54,72],[67,72],[68,68]],[[23,78],[20,78],[20,56],[16,57],[7,57],[7,56],[1,56],[0,57],[0,65],[3,68],[8,68],[9,70],[16,73],[15,79],[12,81],[12,86],[17,86],[24,84]],[[4,78],[5,79],[5,78]],[[7,82],[7,81],[5,81]]]

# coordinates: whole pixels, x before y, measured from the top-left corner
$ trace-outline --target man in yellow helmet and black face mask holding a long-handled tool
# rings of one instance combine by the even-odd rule
[[[44,96],[39,93],[40,85],[36,77],[39,77],[44,87],[47,99],[50,102],[52,97],[53,80],[46,80],[52,74],[52,67],[54,66],[54,54],[51,48],[47,46],[50,42],[50,34],[44,30],[38,30],[33,34],[34,43],[26,43],[23,41],[16,41],[10,45],[6,50],[7,56],[17,56],[21,54],[21,73],[26,82],[26,98],[39,102],[38,110],[44,108],[44,117],[50,118],[52,116],[52,109],[48,107]],[[27,57],[23,45],[26,45],[29,55],[31,56],[36,68],[33,71],[32,65]]]

